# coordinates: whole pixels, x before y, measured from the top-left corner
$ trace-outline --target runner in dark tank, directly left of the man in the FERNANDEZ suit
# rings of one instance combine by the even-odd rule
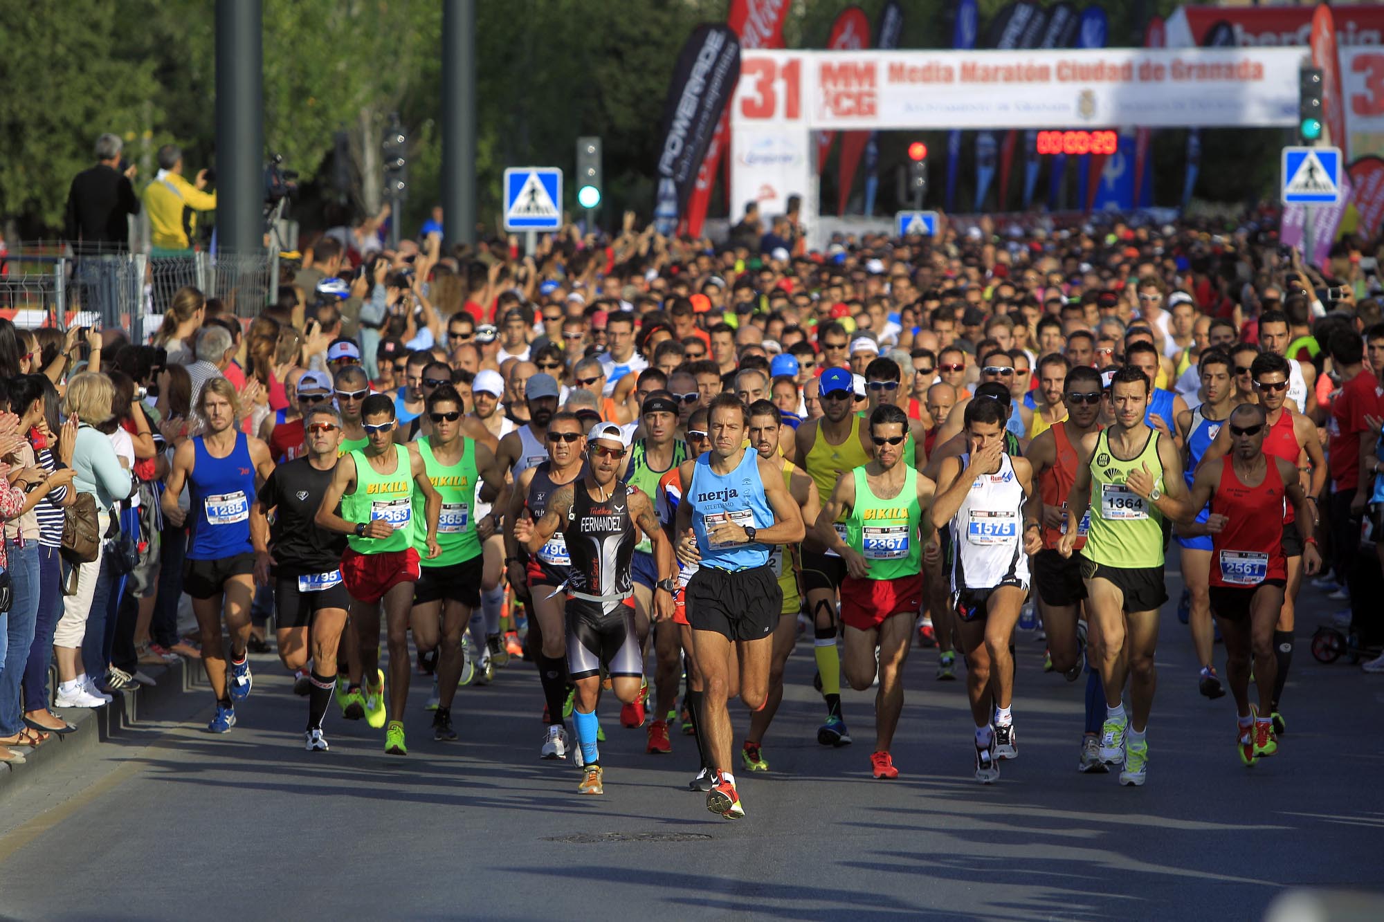
[[[572,752],[570,736],[565,717],[567,699],[566,666],[566,597],[558,587],[567,583],[572,575],[572,555],[562,532],[555,532],[547,544],[540,547],[527,561],[519,555],[519,539],[515,537],[515,523],[525,516],[541,519],[548,509],[554,491],[576,480],[585,472],[585,436],[577,417],[563,410],[548,421],[548,453],[537,467],[529,468],[515,479],[509,494],[509,508],[505,512],[505,569],[509,584],[527,586],[533,601],[529,617],[529,642],[536,651],[538,680],[547,702],[548,730],[540,756],[544,759],[566,759]]]

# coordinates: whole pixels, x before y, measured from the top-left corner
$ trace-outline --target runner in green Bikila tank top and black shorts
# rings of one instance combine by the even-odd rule
[[[439,651],[433,739],[453,742],[457,731],[451,725],[451,702],[466,662],[461,638],[472,612],[480,606],[484,579],[472,508],[477,496],[494,500],[504,491],[505,469],[489,444],[461,435],[461,396],[450,383],[428,395],[425,415],[432,433],[410,447],[418,453],[428,482],[441,500],[435,532],[439,552],[429,554],[428,547],[428,494],[415,490],[412,548],[421,559],[410,627],[421,655]]]

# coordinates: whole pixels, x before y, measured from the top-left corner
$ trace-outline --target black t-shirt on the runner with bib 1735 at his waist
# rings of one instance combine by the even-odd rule
[[[268,475],[259,501],[266,509],[278,507],[268,529],[270,551],[278,561],[274,576],[329,573],[340,566],[346,536],[313,521],[331,482],[332,472],[318,471],[307,458],[281,464]]]

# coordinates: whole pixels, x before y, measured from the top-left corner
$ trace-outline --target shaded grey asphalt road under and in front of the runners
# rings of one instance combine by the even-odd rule
[[[844,696],[855,745],[815,742],[822,706],[801,644],[765,741],[774,771],[738,775],[739,822],[685,789],[691,739],[645,754],[613,700],[601,707],[606,795],[577,796],[573,767],[537,757],[529,665],[458,692],[459,743],[432,742],[415,677],[400,759],[335,706],[332,750],[304,752],[306,702],[262,656],[230,735],[202,731],[210,696],[198,696],[188,720],[0,800],[0,915],[1251,919],[1302,886],[1373,890],[1384,905],[1384,678],[1312,660],[1306,638],[1329,608],[1304,591],[1289,734],[1246,768],[1230,698],[1197,694],[1190,640],[1165,606],[1143,788],[1075,771],[1082,683],[1042,674],[1031,634],[1019,638],[1020,757],[988,788],[972,779],[963,684],[933,678],[934,651],[908,662],[902,775],[884,782],[869,775],[872,694]],[[743,709],[736,721],[739,738]]]

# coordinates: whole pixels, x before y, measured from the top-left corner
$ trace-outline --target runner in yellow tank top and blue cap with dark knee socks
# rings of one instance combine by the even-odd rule
[[[844,345],[844,341],[843,341]],[[854,413],[855,388],[846,368],[828,368],[818,378],[822,389],[822,415],[803,422],[794,432],[796,461],[817,483],[817,494],[830,496],[836,479],[872,457],[868,426]],[[844,522],[837,523],[837,532]],[[846,579],[846,563],[830,550],[803,548],[803,588],[807,591],[808,616],[812,619],[817,673],[826,699],[826,723],[817,730],[823,746],[851,742],[841,716],[841,660],[836,648],[837,587]]]

